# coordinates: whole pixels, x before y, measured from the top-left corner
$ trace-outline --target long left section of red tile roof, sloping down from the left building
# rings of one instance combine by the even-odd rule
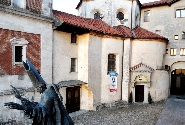
[[[116,29],[109,26],[107,23],[103,22],[100,19],[83,18],[80,16],[75,16],[75,15],[68,14],[65,12],[60,12],[57,10],[53,10],[53,14],[62,22],[65,22],[73,26],[101,32],[104,34],[121,35],[121,36],[124,35],[123,33],[117,31]]]

